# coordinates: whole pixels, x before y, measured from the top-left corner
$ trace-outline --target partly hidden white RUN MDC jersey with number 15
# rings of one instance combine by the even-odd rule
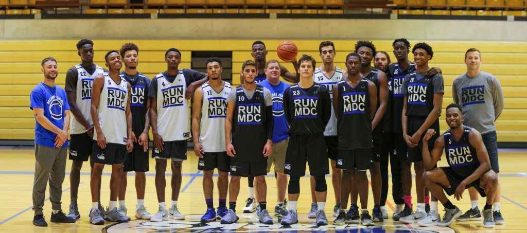
[[[335,67],[335,73],[333,76],[327,77],[318,67],[313,74],[313,79],[316,83],[319,83],[321,86],[324,86],[329,91],[329,97],[331,102],[333,102],[333,85],[337,84],[338,81],[342,79],[344,73],[339,67]],[[324,131],[324,136],[336,136],[337,135],[337,118],[335,116],[335,111],[333,110],[333,104],[331,104],[331,118],[329,119],[328,124],[326,125],[326,130]]]

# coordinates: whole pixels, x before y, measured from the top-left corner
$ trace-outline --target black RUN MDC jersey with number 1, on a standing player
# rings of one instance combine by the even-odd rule
[[[346,80],[338,82],[337,134],[338,149],[372,148],[372,119],[367,79],[361,79],[357,86]]]

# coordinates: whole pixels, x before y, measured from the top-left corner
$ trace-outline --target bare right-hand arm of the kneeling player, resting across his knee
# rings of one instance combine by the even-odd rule
[[[454,197],[457,200],[463,198],[462,194],[463,191],[465,191],[467,185],[482,177],[485,172],[491,170],[491,161],[489,159],[489,153],[487,153],[485,144],[483,144],[483,140],[481,139],[481,133],[477,132],[477,130],[475,129],[472,129],[469,133],[469,143],[476,150],[477,160],[480,161],[480,166],[477,167],[476,170],[472,172],[469,177],[461,181],[459,186],[457,186],[456,191],[454,192]],[[472,156],[474,156],[474,154]]]

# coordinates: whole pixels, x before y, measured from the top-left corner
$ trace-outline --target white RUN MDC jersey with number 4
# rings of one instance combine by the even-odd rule
[[[163,73],[157,76],[158,133],[163,141],[181,141],[190,138],[189,101],[185,99],[187,83],[179,70],[174,82]]]

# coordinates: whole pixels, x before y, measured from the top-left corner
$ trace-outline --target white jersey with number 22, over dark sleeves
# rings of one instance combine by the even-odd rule
[[[93,79],[99,75],[103,74],[104,70],[101,66],[95,65],[95,71],[93,74],[90,74],[81,64],[74,66],[77,69],[77,106],[81,110],[82,115],[88,120],[89,124],[93,124],[92,114],[90,113],[90,108],[92,104],[92,83]],[[80,134],[85,133],[86,128],[75,119],[71,117],[71,134]]]

